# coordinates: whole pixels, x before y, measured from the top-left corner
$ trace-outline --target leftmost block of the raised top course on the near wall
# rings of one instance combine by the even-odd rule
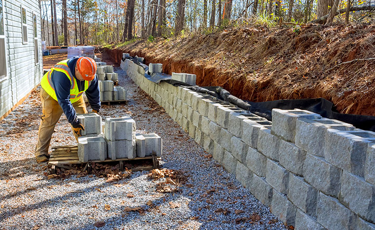
[[[289,142],[295,142],[297,118],[320,119],[319,114],[300,109],[272,109],[272,134]]]

